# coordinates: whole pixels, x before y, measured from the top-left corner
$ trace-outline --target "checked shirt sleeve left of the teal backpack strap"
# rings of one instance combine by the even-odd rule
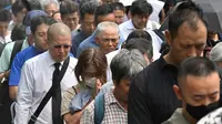
[[[80,124],[94,124],[94,101],[84,108]]]

